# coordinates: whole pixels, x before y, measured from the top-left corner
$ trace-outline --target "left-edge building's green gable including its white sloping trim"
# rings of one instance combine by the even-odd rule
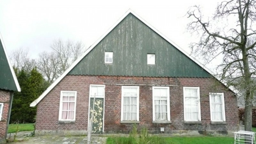
[[[20,85],[8,58],[3,38],[0,34],[0,89],[20,92]]]

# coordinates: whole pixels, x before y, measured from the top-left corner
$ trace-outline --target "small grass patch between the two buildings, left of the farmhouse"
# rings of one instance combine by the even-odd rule
[[[8,133],[16,132],[18,126],[18,131],[34,131],[33,123],[30,124],[9,124]]]

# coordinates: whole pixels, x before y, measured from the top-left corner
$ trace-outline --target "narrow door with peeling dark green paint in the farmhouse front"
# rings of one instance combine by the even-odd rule
[[[90,98],[90,118],[93,106],[93,98]],[[95,98],[92,133],[102,134],[103,133],[103,111],[104,111],[104,99]]]

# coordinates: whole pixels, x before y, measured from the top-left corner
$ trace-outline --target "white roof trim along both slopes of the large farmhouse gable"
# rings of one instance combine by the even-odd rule
[[[199,61],[197,61],[195,58],[193,58],[192,56],[190,56],[187,52],[185,52],[183,49],[181,49],[177,44],[175,44],[174,42],[172,42],[170,39],[168,39],[166,36],[164,36],[162,33],[160,33],[156,28],[154,28],[153,26],[151,26],[147,21],[143,20],[139,15],[137,15],[135,12],[133,12],[131,9],[129,9],[127,12],[125,12],[125,14],[119,19],[117,20],[117,22],[108,29],[108,31],[102,35],[94,44],[92,44],[91,47],[89,47],[89,49],[87,49],[84,54],[79,57],[59,78],[57,78],[36,100],[34,100],[31,104],[30,107],[34,107],[36,106],[36,104],[38,102],[40,102],[46,94],[48,94],[48,92],[50,92],[79,62],[80,60],[82,60],[97,44],[100,43],[100,41],[108,35],[109,32],[111,32],[129,13],[132,13],[135,17],[137,17],[139,20],[141,20],[144,24],[146,24],[149,28],[151,28],[152,30],[154,30],[158,35],[162,36],[166,41],[168,41],[170,44],[172,44],[174,47],[176,47],[178,50],[180,50],[182,53],[184,53],[186,56],[188,56],[191,60],[193,60],[194,62],[196,62],[196,64],[198,64],[200,67],[204,68],[208,73],[213,75],[213,72],[204,67],[203,64],[201,64]],[[216,79],[218,79],[220,81],[220,78],[215,77]],[[227,83],[223,83],[222,84],[227,86]],[[238,91],[233,88],[233,87],[229,87],[230,90],[232,90],[235,93],[238,93]]]

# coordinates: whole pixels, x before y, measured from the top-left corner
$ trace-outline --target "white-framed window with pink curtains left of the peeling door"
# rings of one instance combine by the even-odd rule
[[[75,120],[76,92],[62,92],[62,120]]]

